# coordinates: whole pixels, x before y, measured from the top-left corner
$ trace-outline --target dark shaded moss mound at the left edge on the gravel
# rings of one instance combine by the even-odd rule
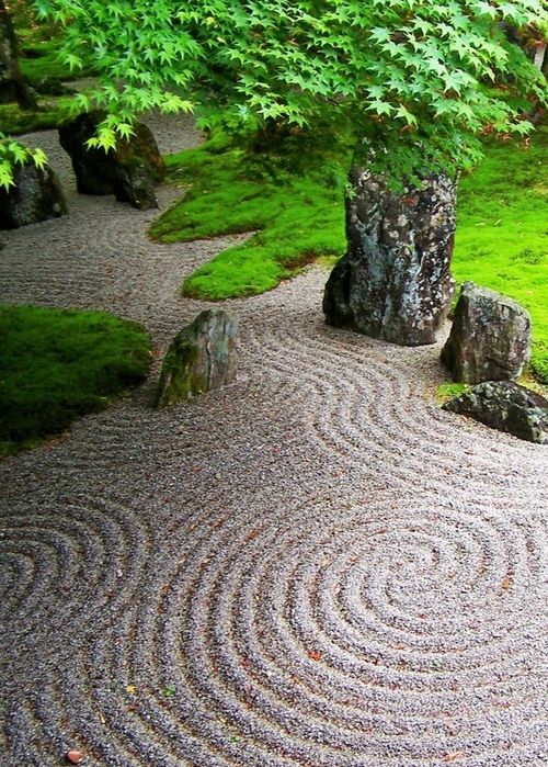
[[[0,306],[0,455],[64,431],[141,381],[150,339],[100,312]]]

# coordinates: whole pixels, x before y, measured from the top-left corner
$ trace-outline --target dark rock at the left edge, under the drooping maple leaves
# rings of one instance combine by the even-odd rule
[[[62,190],[49,166],[30,161],[13,170],[15,185],[0,189],[0,229],[16,229],[67,213]]]

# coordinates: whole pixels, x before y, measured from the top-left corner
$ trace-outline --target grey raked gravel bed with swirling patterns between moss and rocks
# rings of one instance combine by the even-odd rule
[[[204,307],[178,287],[230,238],[159,246],[155,212],[69,205],[7,235],[0,300],[112,309],[157,354],[134,396],[0,464],[0,763],[547,764],[546,448],[441,411],[438,347],[327,327],[320,269],[228,302],[238,382],[155,411]]]

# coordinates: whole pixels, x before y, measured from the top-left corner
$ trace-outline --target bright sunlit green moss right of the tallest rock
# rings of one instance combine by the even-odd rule
[[[532,368],[548,383],[548,129],[530,148],[492,144],[459,188],[453,270],[504,293],[533,319]]]

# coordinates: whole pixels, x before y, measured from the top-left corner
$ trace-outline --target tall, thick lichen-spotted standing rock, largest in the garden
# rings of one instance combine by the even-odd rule
[[[354,167],[351,183],[347,252],[326,285],[327,322],[393,343],[433,343],[454,290],[456,182],[436,176],[395,192]]]

